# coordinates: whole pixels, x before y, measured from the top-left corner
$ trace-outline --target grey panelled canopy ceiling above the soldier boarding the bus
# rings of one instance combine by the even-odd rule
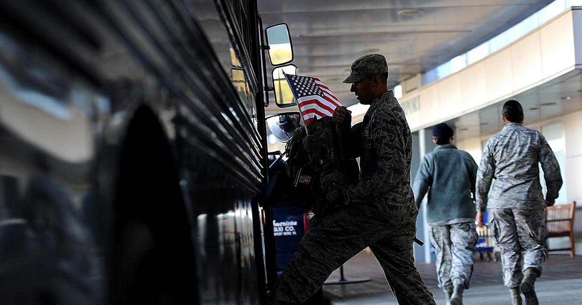
[[[289,25],[299,73],[321,78],[349,106],[357,101],[342,80],[354,59],[367,53],[385,55],[389,85],[395,85],[468,51],[550,2],[258,0],[258,6],[264,27]],[[293,109],[271,105],[267,113],[286,110]]]

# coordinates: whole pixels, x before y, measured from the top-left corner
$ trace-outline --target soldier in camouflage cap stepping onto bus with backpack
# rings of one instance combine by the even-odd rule
[[[370,105],[362,123],[352,127],[352,157],[360,156],[361,179],[341,186],[345,209],[310,228],[281,274],[271,304],[300,304],[329,275],[365,247],[384,269],[400,304],[435,304],[414,266],[413,241],[418,209],[410,187],[412,138],[404,112],[386,89],[388,64],[379,54],[352,63],[350,76],[360,103]],[[345,120],[338,107],[333,120]]]

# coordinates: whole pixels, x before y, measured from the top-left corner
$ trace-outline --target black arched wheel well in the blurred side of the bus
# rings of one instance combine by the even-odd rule
[[[113,206],[112,304],[196,304],[190,226],[169,142],[154,112],[127,128]]]

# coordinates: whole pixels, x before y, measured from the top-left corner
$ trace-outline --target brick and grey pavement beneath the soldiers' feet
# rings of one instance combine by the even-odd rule
[[[417,263],[417,269],[437,304],[445,304],[438,288],[434,264]],[[370,278],[358,284],[324,285],[332,304],[398,304],[386,282],[378,261],[364,250],[344,265],[346,279]],[[333,272],[328,281],[339,279]],[[535,284],[540,304],[582,304],[582,257],[549,254],[544,274]],[[502,285],[501,262],[480,261],[474,264],[471,288],[466,290],[464,304],[510,304],[509,291]]]

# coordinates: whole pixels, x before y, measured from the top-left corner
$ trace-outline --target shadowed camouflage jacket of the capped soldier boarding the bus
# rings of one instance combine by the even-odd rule
[[[350,155],[360,156],[361,178],[344,189],[346,204],[405,210],[416,217],[418,209],[410,186],[412,137],[392,91],[372,102],[364,120],[352,127],[352,141]]]

